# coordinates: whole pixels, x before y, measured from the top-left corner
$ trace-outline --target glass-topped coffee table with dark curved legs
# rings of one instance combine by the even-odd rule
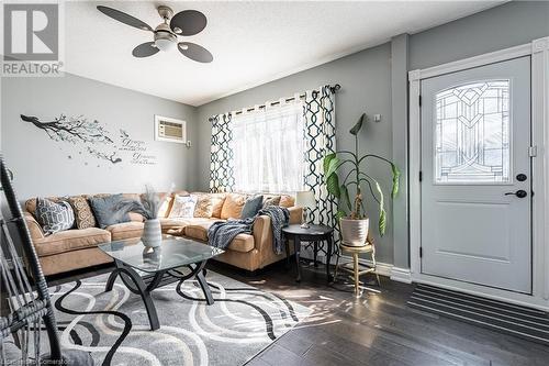
[[[105,291],[111,291],[117,276],[133,293],[142,297],[153,331],[160,328],[150,292],[159,287],[184,281],[194,276],[208,304],[213,303],[212,292],[204,278],[208,259],[224,251],[189,239],[164,236],[160,246],[145,247],[141,239],[128,239],[98,246],[114,259],[116,268],[107,280]],[[190,273],[184,273],[184,268]]]

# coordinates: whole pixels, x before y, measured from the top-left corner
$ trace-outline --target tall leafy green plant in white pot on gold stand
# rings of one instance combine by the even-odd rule
[[[379,206],[378,229],[381,236],[384,235],[386,229],[383,191],[379,181],[367,173],[366,163],[370,159],[386,163],[393,176],[391,198],[396,197],[399,192],[400,171],[392,162],[374,154],[359,156],[358,133],[366,120],[367,115],[363,113],[349,131],[355,136],[355,152],[338,151],[326,155],[323,162],[327,191],[337,199],[336,220],[339,222],[341,240],[346,245],[351,246],[365,245],[368,237],[369,218],[365,209],[363,187],[368,187]],[[346,171],[345,178],[339,181],[339,174],[343,174],[344,168],[350,168],[350,170]],[[355,191],[352,202],[349,196],[351,189]]]

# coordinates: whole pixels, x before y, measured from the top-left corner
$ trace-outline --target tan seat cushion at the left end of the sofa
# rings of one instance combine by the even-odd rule
[[[34,241],[38,256],[53,255],[86,247],[96,247],[111,241],[111,233],[99,228],[66,230]]]

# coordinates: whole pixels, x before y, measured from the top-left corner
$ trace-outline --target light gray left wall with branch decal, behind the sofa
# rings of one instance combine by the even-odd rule
[[[150,182],[157,190],[192,188],[194,147],[154,141],[154,115],[187,121],[189,138],[197,109],[74,75],[59,78],[3,78],[1,100],[1,146],[5,162],[15,174],[20,199],[35,196],[94,192],[139,192]],[[120,129],[144,141],[145,154],[157,157],[156,165],[131,164],[131,154],[112,164],[91,157],[82,144],[52,141],[44,131],[23,122],[20,114],[42,121],[83,115],[98,120],[120,144]],[[101,144],[99,149],[104,148]],[[79,154],[79,152],[82,152]],[[68,156],[71,156],[69,158]],[[87,164],[87,165],[86,165]]]

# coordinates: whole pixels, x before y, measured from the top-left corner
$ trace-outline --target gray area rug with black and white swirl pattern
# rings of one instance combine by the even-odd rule
[[[51,288],[64,348],[91,353],[96,365],[243,365],[310,314],[310,310],[220,274],[153,291],[160,329],[150,331],[139,296],[108,275]]]

